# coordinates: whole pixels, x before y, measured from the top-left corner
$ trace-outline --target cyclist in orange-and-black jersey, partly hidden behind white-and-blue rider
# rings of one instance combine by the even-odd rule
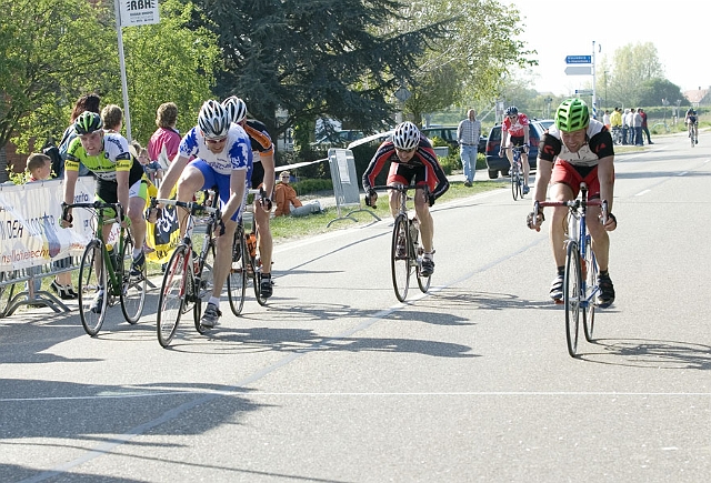
[[[271,238],[271,229],[269,228],[269,219],[271,215],[272,197],[274,192],[274,144],[267,131],[264,123],[250,119],[247,120],[247,104],[237,95],[231,95],[222,101],[222,105],[227,110],[233,123],[241,125],[252,148],[253,163],[251,174],[248,173],[248,183],[252,188],[258,188],[263,183],[267,198],[261,195],[254,197],[254,223],[257,233],[259,234],[259,259],[262,264],[260,293],[267,299],[272,295],[271,282],[271,260],[273,241]],[[259,153],[259,158],[254,154]]]

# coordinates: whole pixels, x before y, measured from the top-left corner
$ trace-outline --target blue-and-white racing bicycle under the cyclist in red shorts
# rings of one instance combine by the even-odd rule
[[[580,197],[571,201],[535,202],[533,212],[543,207],[567,207],[568,239],[565,240],[565,275],[563,279],[563,304],[565,305],[565,341],[568,353],[578,354],[580,318],[585,340],[592,342],[595,318],[595,300],[600,294],[598,285],[598,262],[592,251],[592,239],[588,231],[588,207],[601,207],[602,222],[608,217],[608,202],[588,199],[588,185],[580,183]],[[557,303],[560,303],[557,301]]]

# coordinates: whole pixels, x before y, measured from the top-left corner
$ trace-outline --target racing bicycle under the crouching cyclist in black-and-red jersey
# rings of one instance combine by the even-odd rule
[[[390,266],[392,269],[392,288],[400,302],[404,302],[410,286],[410,275],[414,272],[418,279],[418,286],[422,293],[430,290],[432,275],[422,275],[422,255],[424,249],[419,242],[420,222],[417,217],[408,218],[407,201],[409,190],[414,190],[414,185],[384,185],[373,187],[378,190],[397,191],[398,214],[392,225],[392,243],[390,246]],[[425,193],[427,195],[427,193]],[[375,208],[371,204],[372,208]]]

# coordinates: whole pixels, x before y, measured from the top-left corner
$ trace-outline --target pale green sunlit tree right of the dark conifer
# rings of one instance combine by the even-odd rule
[[[413,0],[402,14],[413,19],[410,28],[447,26],[447,34],[434,39],[420,58],[409,85],[413,95],[404,108],[417,122],[423,113],[454,103],[490,100],[514,70],[535,64],[528,58],[534,52],[515,40],[523,26],[513,7],[494,0]]]

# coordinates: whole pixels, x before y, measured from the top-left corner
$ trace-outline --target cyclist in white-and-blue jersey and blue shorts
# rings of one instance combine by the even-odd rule
[[[202,314],[201,323],[206,328],[217,325],[222,315],[220,295],[232,266],[234,229],[244,207],[247,171],[251,163],[252,151],[247,133],[241,127],[231,123],[227,110],[220,102],[209,100],[200,109],[198,125],[188,131],[180,141],[178,154],[158,189],[158,198],[170,198],[177,182],[176,198],[179,201],[190,201],[198,191],[218,187],[222,218],[214,230],[214,286]],[[187,215],[180,217],[178,221],[182,238]]]

